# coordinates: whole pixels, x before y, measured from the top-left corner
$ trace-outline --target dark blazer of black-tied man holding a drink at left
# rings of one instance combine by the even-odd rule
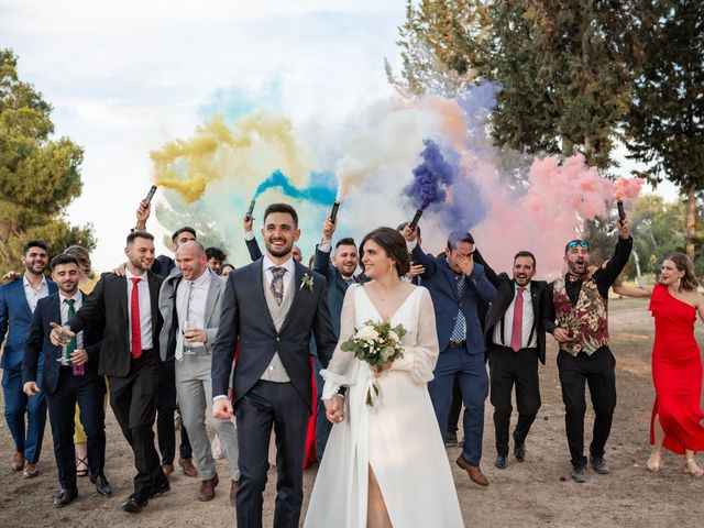
[[[84,294],[84,302],[87,296]],[[62,322],[61,297],[52,294],[40,299],[32,318],[30,333],[24,342],[24,358],[22,359],[22,384],[37,382],[46,394],[54,394],[58,384],[58,371],[62,346],[55,346],[50,340],[52,327],[50,322]],[[91,324],[84,331],[84,350],[88,352],[88,361],[85,366],[86,376],[98,376],[98,362],[100,359],[100,341],[102,336],[102,321]],[[44,358],[43,380],[37,380],[40,356]]]

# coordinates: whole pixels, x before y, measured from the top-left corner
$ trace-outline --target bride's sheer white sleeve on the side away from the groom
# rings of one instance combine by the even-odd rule
[[[440,345],[436,329],[436,312],[430,293],[421,287],[418,310],[418,333],[415,345],[404,346],[404,356],[392,363],[393,371],[409,371],[414,382],[422,384],[433,378]]]

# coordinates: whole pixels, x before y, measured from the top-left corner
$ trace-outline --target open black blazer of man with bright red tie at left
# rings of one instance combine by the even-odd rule
[[[164,323],[158,311],[158,290],[164,278],[152,272],[147,272],[146,276],[152,311],[152,342],[158,358],[158,334]],[[107,376],[124,377],[130,372],[127,280],[127,277],[114,273],[103,273],[76,317],[68,321],[70,329],[78,332],[105,320],[99,373]]]

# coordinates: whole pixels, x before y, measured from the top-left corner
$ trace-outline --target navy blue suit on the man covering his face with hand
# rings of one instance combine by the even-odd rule
[[[488,376],[484,365],[484,336],[476,309],[480,300],[493,300],[496,289],[486,278],[482,265],[475,263],[472,273],[464,278],[462,298],[459,298],[457,274],[444,255],[428,255],[416,244],[413,258],[426,268],[420,278],[430,292],[436,309],[440,355],[433,371],[435,378],[428,384],[428,392],[438,417],[440,432],[444,439],[452,405],[452,387],[457,378],[465,409],[462,458],[470,465],[479,466],[482,458],[484,400],[488,394]],[[466,334],[464,340],[452,342],[450,337],[460,310],[466,322]]]

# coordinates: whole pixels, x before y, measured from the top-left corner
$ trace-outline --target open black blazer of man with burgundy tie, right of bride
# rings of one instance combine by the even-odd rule
[[[476,251],[474,253],[474,261],[481,263],[484,266],[484,272],[486,272],[486,278],[488,278],[490,283],[494,285],[496,288],[496,298],[492,301],[486,311],[486,316],[484,319],[484,339],[486,340],[486,352],[487,355],[491,353],[491,344],[492,337],[494,334],[494,328],[496,324],[501,324],[504,315],[506,314],[506,309],[510,306],[514,300],[515,288],[514,288],[514,279],[508,276],[506,273],[496,274],[492,266],[490,266],[482,254]],[[543,305],[543,294],[548,287],[548,283],[544,280],[531,280],[530,282],[530,296],[532,298],[532,314],[536,327],[536,334],[538,338],[538,358],[540,362],[544,365],[546,363],[546,329],[542,324],[542,305]]]

